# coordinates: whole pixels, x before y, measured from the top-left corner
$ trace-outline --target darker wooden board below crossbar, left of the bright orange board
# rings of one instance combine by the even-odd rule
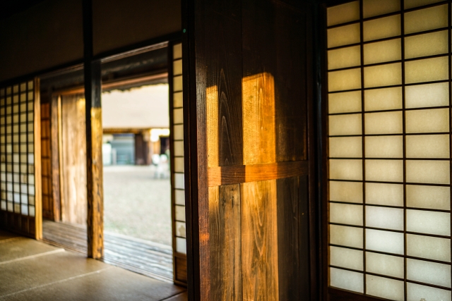
[[[213,300],[242,300],[240,186],[209,188],[210,278]]]

